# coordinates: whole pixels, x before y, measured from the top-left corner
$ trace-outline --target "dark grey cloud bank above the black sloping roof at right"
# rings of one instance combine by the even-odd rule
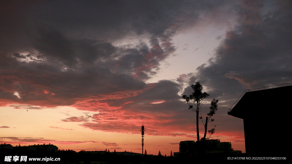
[[[216,125],[230,120],[225,114],[244,90],[292,82],[292,12],[286,10],[291,2],[241,3],[236,9],[238,25],[226,32],[215,49],[215,57],[189,74],[189,85],[200,81],[210,94],[205,101],[219,100]],[[189,95],[192,89],[187,87],[184,93]]]

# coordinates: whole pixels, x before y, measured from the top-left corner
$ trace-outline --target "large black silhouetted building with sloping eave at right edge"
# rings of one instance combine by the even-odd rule
[[[246,92],[228,112],[243,119],[246,153],[283,156],[289,152],[285,135],[291,93],[292,86]]]

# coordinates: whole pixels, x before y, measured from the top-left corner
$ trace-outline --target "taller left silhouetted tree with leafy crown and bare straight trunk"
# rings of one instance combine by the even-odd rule
[[[206,92],[202,93],[203,87],[201,86],[200,82],[196,82],[195,85],[191,85],[191,87],[193,88],[194,92],[190,96],[183,95],[183,99],[189,105],[189,109],[192,109],[192,111],[196,112],[197,141],[199,141],[199,112],[201,111],[200,104],[206,97],[209,96],[209,94]],[[195,105],[195,108],[193,108],[193,105],[190,105],[189,102],[192,102]]]

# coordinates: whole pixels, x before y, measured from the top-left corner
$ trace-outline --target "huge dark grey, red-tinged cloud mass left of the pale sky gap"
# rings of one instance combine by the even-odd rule
[[[177,30],[219,4],[225,1],[3,1],[0,98],[54,107],[138,95],[175,51]],[[147,43],[112,44],[131,35]]]

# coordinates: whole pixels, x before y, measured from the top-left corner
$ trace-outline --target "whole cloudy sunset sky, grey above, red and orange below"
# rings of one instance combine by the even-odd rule
[[[0,143],[170,155],[196,140],[182,95],[218,111],[210,139],[245,152],[227,115],[246,89],[292,82],[291,1],[0,1]],[[256,100],[255,100],[256,101]],[[200,137],[204,135],[200,122]],[[269,136],[266,136],[269,137]]]

